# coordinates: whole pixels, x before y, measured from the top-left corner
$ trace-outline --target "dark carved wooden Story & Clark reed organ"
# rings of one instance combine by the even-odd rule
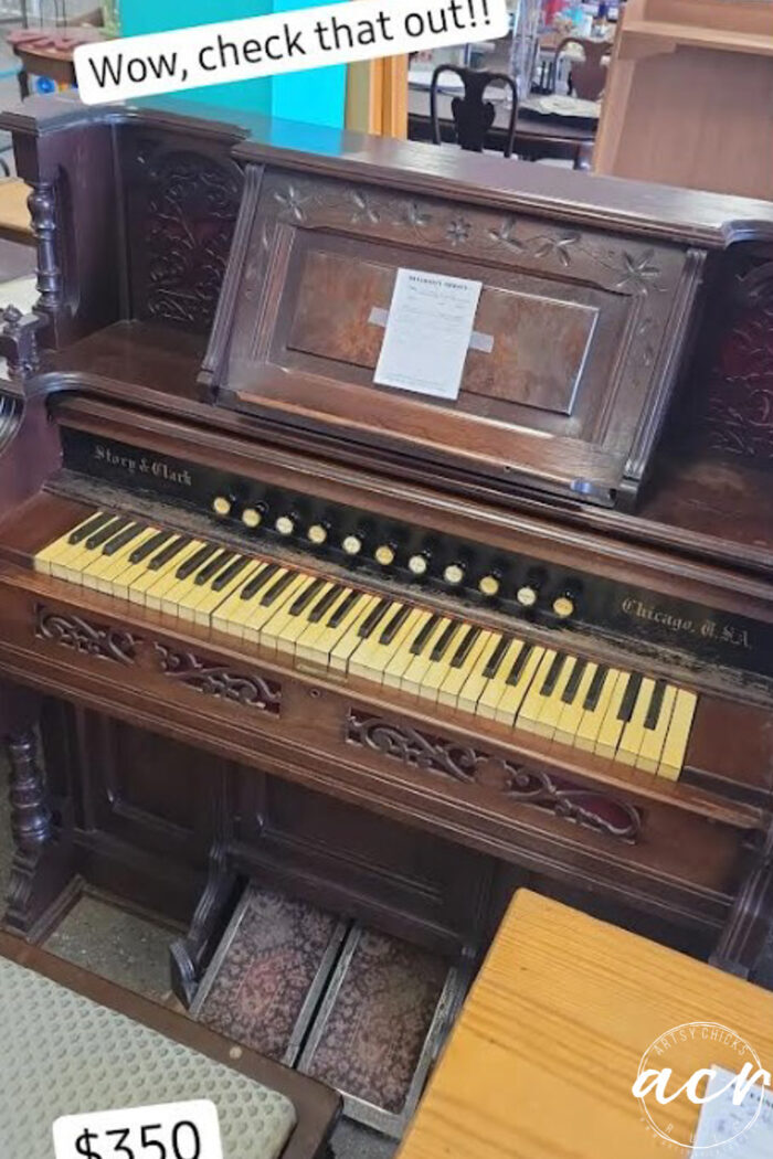
[[[449,960],[530,882],[753,971],[773,206],[174,102],[0,124],[7,927],[109,890],[187,925],[190,1000],[246,877]],[[483,283],[455,403],[373,385],[400,267]]]

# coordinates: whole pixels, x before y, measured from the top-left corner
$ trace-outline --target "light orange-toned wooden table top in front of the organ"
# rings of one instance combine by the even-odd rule
[[[650,1044],[690,1022],[730,1027],[773,1071],[773,993],[522,890],[398,1159],[687,1159],[630,1088]],[[648,1063],[672,1066],[674,1087],[713,1064],[743,1060],[700,1033]],[[669,1115],[690,1139],[699,1108]]]

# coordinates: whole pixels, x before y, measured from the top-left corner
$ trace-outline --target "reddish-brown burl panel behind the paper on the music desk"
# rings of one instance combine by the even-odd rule
[[[395,277],[394,264],[307,250],[287,345],[373,369],[385,331],[372,311],[388,309]],[[493,345],[468,351],[461,393],[570,415],[597,318],[590,306],[484,284],[475,329]]]

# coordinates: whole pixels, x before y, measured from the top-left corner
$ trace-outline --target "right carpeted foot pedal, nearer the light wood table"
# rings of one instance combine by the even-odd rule
[[[348,1117],[400,1138],[465,983],[445,958],[355,923],[298,1070],[336,1087]]]

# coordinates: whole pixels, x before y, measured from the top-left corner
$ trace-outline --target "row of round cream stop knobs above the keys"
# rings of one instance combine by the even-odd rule
[[[220,518],[226,518],[232,513],[233,503],[224,495],[218,495],[212,501],[212,510]],[[241,522],[246,527],[254,530],[263,524],[264,515],[260,508],[246,506],[241,512]],[[289,539],[298,531],[297,520],[291,515],[279,515],[274,520],[274,530],[282,537]],[[322,547],[328,542],[329,529],[323,523],[313,523],[306,530],[306,539],[314,547]],[[362,556],[366,549],[365,539],[362,534],[352,532],[341,540],[341,549],[352,560]],[[373,559],[384,568],[391,567],[396,556],[396,549],[392,544],[379,544],[373,551]],[[407,561],[408,570],[416,578],[426,575],[430,567],[430,555],[428,552],[416,552]],[[454,561],[447,563],[443,569],[443,580],[453,588],[459,588],[466,577],[467,568],[464,562]],[[495,573],[481,576],[477,581],[477,590],[482,596],[494,599],[499,595],[502,581]],[[523,583],[516,589],[516,599],[522,607],[534,607],[539,600],[540,583],[538,578]],[[575,592],[567,590],[561,592],[552,603],[553,611],[562,620],[569,619],[575,612]]]

